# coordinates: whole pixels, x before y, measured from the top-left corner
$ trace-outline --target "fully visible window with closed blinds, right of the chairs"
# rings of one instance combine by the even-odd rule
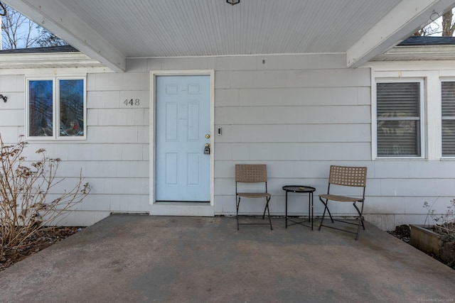
[[[376,84],[378,157],[420,157],[421,82]]]

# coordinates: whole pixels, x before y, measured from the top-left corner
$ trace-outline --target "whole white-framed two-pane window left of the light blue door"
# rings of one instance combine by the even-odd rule
[[[26,79],[26,137],[85,138],[85,77]]]

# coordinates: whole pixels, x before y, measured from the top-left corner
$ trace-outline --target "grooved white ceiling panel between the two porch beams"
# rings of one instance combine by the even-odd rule
[[[400,0],[61,0],[126,57],[345,53]]]

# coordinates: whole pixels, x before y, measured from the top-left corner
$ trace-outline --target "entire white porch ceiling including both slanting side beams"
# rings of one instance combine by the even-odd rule
[[[7,0],[115,71],[128,57],[346,53],[358,67],[455,0]]]

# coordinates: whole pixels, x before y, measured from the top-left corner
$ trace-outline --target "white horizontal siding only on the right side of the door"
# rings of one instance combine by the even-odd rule
[[[245,69],[227,66],[215,74],[215,124],[223,128],[223,136],[215,138],[215,199],[223,204],[215,203],[216,211],[235,214],[233,167],[239,162],[267,164],[275,214],[284,214],[284,184],[316,187],[314,211],[321,214],[317,194],[326,191],[331,164],[368,166],[365,212],[382,227],[402,222],[400,214],[423,221],[422,206],[431,197],[441,195],[441,204],[448,204],[453,167],[441,161],[371,160],[370,70],[338,69],[333,62],[317,69],[314,62],[294,60],[299,69],[279,56],[270,68],[270,58],[264,64],[257,59],[257,70],[242,58]],[[232,58],[222,61],[237,67]],[[245,207],[261,214],[260,207]],[[298,209],[289,210],[299,214]],[[333,211],[354,214],[352,206]]]

